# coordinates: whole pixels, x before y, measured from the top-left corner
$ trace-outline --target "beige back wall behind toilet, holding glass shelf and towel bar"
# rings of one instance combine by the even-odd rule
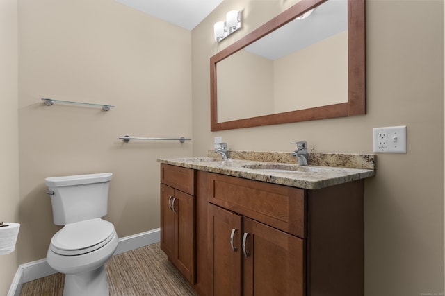
[[[46,257],[59,229],[45,177],[110,171],[118,235],[158,228],[156,158],[190,156],[192,143],[118,137],[193,137],[191,32],[113,0],[18,3],[20,263]]]

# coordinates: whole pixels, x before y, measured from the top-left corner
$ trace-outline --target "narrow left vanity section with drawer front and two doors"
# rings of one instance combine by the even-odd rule
[[[195,280],[195,171],[161,164],[161,250]]]

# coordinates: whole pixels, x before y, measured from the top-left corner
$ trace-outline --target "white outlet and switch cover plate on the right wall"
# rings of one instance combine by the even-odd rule
[[[387,146],[379,147],[378,134],[386,132]],[[406,153],[406,125],[373,128],[373,151],[375,153]]]

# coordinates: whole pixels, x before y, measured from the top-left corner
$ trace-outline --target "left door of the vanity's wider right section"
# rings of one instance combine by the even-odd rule
[[[208,295],[239,296],[242,217],[213,204],[208,205],[207,213]]]

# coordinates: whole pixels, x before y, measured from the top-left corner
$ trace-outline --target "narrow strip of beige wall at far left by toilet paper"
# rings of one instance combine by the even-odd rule
[[[16,0],[0,1],[0,65],[0,221],[19,222]],[[17,252],[0,256],[0,295],[8,293],[18,265]]]

